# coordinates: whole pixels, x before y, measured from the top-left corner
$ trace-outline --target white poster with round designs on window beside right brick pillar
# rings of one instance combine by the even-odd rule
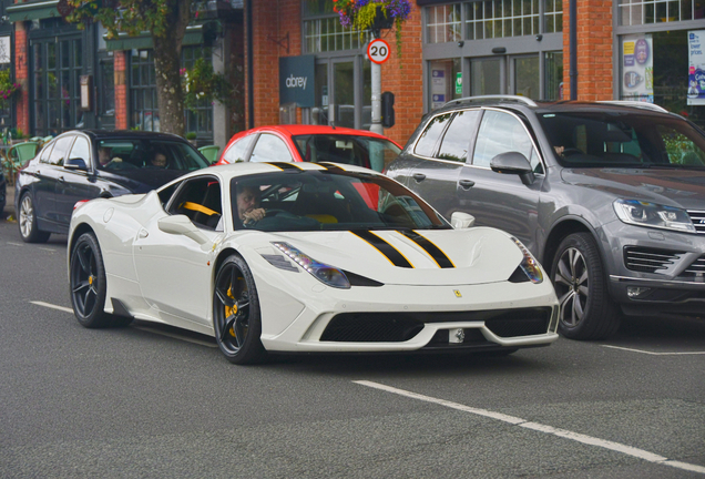
[[[654,55],[651,34],[622,38],[622,100],[654,102]]]

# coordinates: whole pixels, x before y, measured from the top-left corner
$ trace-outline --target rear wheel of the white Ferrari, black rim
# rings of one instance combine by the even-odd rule
[[[84,233],[71,251],[71,304],[82,326],[101,328],[126,326],[132,318],[113,316],[105,307],[105,266],[98,240],[93,233]]]

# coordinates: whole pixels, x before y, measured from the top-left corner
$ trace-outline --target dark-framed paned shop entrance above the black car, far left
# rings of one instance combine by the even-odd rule
[[[81,35],[32,40],[31,123],[34,135],[57,135],[83,128],[80,77],[83,69]]]

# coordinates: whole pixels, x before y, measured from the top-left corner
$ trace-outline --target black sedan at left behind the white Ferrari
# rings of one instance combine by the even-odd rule
[[[146,193],[208,166],[181,136],[141,131],[75,130],[48,143],[19,171],[14,205],[22,240],[65,234],[82,200]]]

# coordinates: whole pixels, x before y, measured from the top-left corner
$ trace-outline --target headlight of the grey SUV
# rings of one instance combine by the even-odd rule
[[[614,212],[627,224],[677,232],[695,233],[695,226],[684,210],[637,200],[615,200]]]

